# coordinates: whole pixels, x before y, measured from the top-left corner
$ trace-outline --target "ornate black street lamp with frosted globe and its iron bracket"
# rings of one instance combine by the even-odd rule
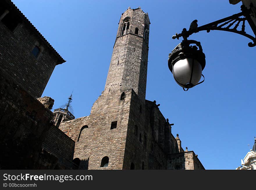
[[[248,37],[253,42],[249,42],[249,47],[256,46],[256,26],[251,18],[251,15],[256,15],[254,12],[256,9],[253,7],[253,4],[250,4],[250,8],[247,9],[244,5],[241,6],[240,13],[234,14],[230,17],[220,19],[209,24],[197,27],[197,20],[194,20],[189,30],[186,28],[182,30],[182,33],[174,35],[173,39],[179,39],[183,37],[184,40],[178,44],[174,50],[169,54],[168,67],[173,73],[175,81],[182,86],[184,91],[187,91],[189,88],[201,84],[204,82],[205,77],[202,75],[202,70],[205,68],[205,54],[202,51],[202,46],[200,42],[195,40],[188,40],[187,38],[196,32],[206,30],[222,30],[228,32],[234,32],[245,37]],[[245,32],[245,21],[248,21],[255,37],[247,34]],[[239,24],[242,23],[241,30],[237,30]],[[233,27],[234,26],[234,27]],[[190,46],[190,44],[195,44]],[[199,48],[199,49],[198,49]],[[199,82],[201,76],[204,78],[203,81]],[[185,90],[185,88],[187,88]]]

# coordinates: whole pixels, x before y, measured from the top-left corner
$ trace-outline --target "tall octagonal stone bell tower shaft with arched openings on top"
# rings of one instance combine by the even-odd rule
[[[149,17],[141,8],[121,16],[106,80],[106,91],[133,89],[145,101]]]

